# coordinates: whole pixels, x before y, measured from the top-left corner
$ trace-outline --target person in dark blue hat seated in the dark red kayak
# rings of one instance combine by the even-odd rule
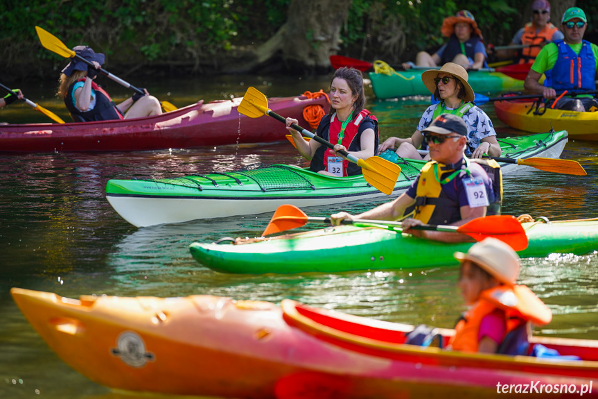
[[[122,103],[114,104],[109,94],[94,82],[104,63],[104,54],[95,53],[89,46],[76,46],[73,51],[94,64],[91,67],[73,58],[60,74],[58,96],[64,99],[73,121],[132,119],[162,113],[160,102],[145,89],[145,95],[136,93]]]

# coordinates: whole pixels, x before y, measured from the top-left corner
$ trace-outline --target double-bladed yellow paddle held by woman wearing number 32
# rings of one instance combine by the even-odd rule
[[[286,119],[284,117],[272,112],[272,110],[268,108],[268,101],[265,94],[261,93],[255,87],[249,87],[247,89],[245,96],[243,96],[243,101],[241,101],[237,110],[250,118],[258,118],[263,115],[268,115],[281,121],[283,124],[286,124]],[[304,129],[297,124],[292,124],[291,127],[294,128],[294,130],[301,132],[302,135],[315,139],[319,144],[334,149],[333,144],[327,142],[322,137],[311,133],[309,130]],[[399,167],[398,164],[377,156],[362,160],[346,151],[337,151],[337,153],[342,154],[346,159],[362,167],[363,177],[373,187],[376,187],[384,194],[392,194],[396,180],[401,173],[401,167]]]

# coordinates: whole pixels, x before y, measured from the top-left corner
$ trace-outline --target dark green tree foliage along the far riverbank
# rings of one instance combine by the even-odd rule
[[[190,74],[219,73],[239,62],[241,53],[246,58],[272,37],[290,18],[292,1],[301,0],[1,1],[0,78],[42,77],[66,65],[64,58],[42,48],[35,25],[69,47],[92,46],[106,54],[109,67],[128,74],[168,74],[173,68],[179,74],[181,68]],[[594,37],[596,1],[551,3],[555,24],[559,7],[577,3],[584,8],[590,19],[586,38]],[[442,20],[464,8],[475,15],[486,43],[508,44],[529,21],[530,4],[531,0],[353,0],[337,53],[389,63],[411,60],[417,51],[440,46],[446,40],[440,33]],[[309,6],[301,9],[313,12]],[[309,29],[306,36],[313,40]]]

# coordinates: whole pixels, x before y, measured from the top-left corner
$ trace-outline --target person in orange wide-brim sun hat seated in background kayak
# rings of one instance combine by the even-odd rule
[[[457,12],[455,17],[446,17],[440,31],[448,37],[448,42],[432,56],[425,51],[417,53],[415,65],[418,67],[437,67],[446,62],[455,62],[465,69],[486,67],[486,49],[482,42],[482,31],[477,27],[473,14],[468,10]],[[412,62],[403,63],[410,69]]]

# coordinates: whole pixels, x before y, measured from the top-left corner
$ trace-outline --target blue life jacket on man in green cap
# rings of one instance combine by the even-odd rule
[[[556,59],[552,69],[545,71],[544,85],[552,87],[557,92],[563,90],[596,90],[594,81],[596,60],[590,42],[583,40],[579,55],[563,40],[556,40],[554,44],[559,49],[559,58]]]

